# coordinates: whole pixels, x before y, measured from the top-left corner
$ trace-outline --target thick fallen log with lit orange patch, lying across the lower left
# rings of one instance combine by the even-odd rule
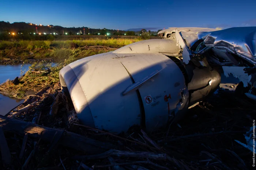
[[[11,131],[19,135],[29,133],[29,137],[32,138],[39,138],[40,136],[42,140],[49,142],[52,141],[56,132],[59,134],[63,133],[61,140],[59,140],[60,145],[67,146],[75,150],[86,151],[91,154],[102,153],[116,147],[110,143],[86,138],[72,132],[43,127],[30,122],[6,118],[4,116],[0,116],[0,127],[3,131]]]

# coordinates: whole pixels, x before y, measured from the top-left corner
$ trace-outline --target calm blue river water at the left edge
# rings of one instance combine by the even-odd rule
[[[5,82],[7,79],[13,80],[17,76],[25,74],[29,70],[31,64],[18,64],[18,65],[0,65],[0,83]],[[24,100],[18,100],[14,98],[9,98],[7,96],[0,94],[0,114],[7,114],[12,108]]]

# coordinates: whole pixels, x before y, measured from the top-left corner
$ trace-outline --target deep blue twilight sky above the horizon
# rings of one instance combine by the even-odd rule
[[[256,0],[0,0],[0,21],[151,31],[256,26]]]

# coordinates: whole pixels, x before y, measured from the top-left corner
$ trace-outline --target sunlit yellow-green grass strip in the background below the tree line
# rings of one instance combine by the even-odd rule
[[[87,46],[106,46],[112,48],[120,48],[131,43],[140,41],[140,39],[86,39],[86,40],[57,40],[57,41],[0,41],[0,59],[66,59],[73,53],[77,56],[94,55],[93,51],[84,51],[80,47]],[[74,44],[78,47],[72,49]]]

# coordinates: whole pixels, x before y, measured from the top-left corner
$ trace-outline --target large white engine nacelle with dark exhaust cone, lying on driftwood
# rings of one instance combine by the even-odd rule
[[[140,41],[65,66],[61,86],[69,92],[80,122],[115,134],[135,124],[150,131],[176,121],[214,91],[218,72],[193,63],[184,67],[179,59],[159,52],[168,52],[170,44]]]

